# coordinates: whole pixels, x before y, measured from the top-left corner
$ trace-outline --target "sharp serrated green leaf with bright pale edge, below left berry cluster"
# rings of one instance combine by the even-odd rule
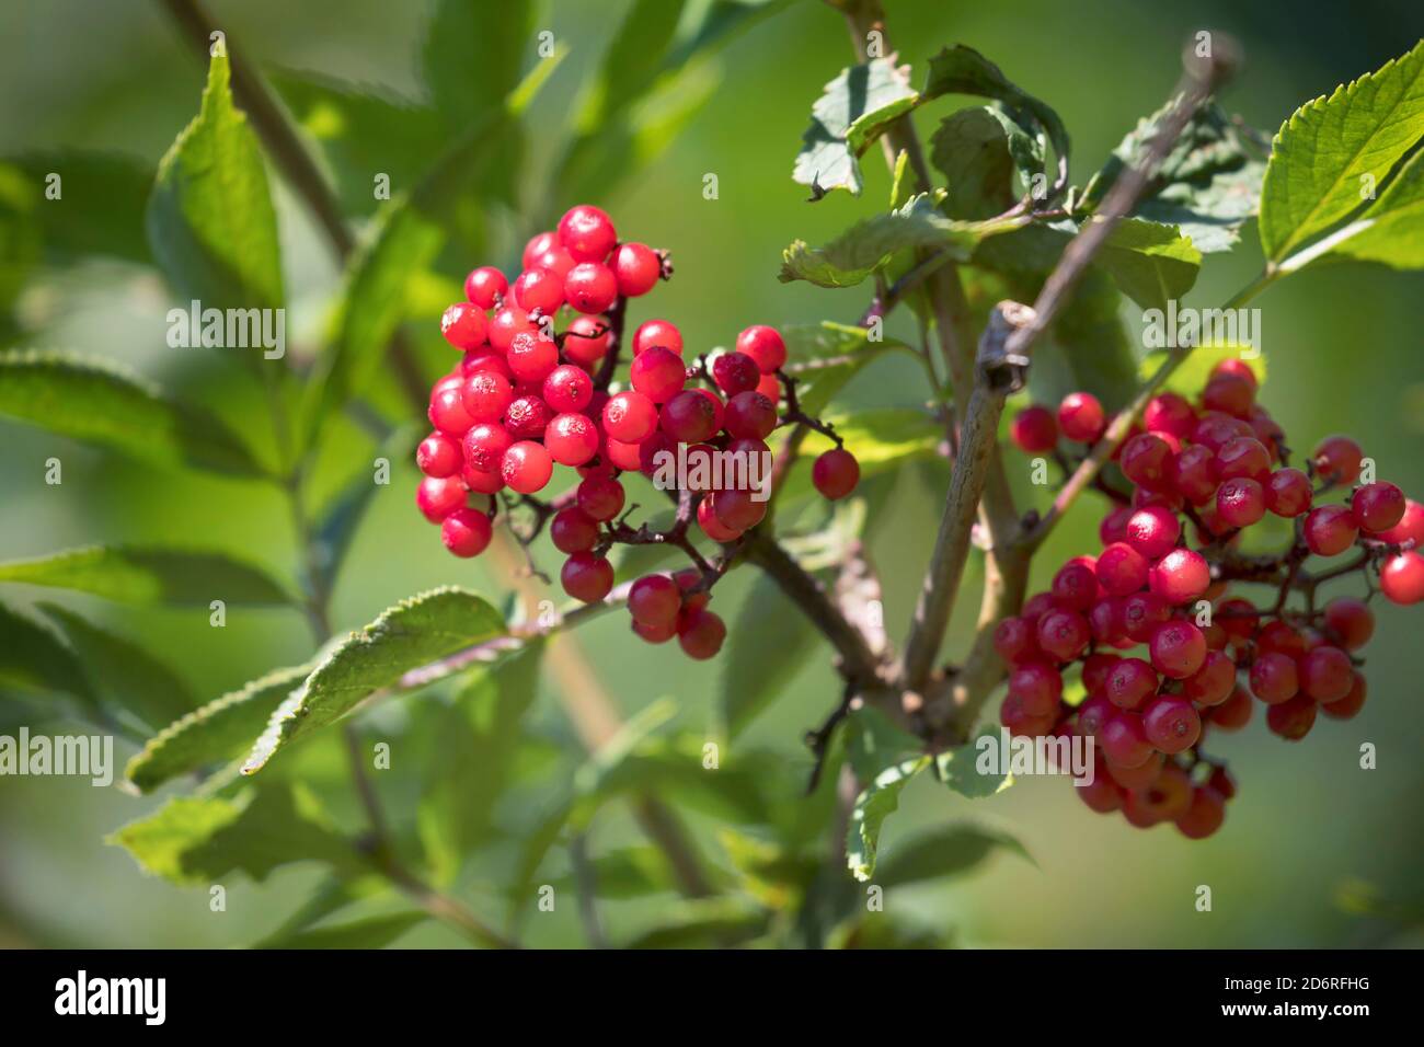
[[[335,724],[409,670],[503,632],[500,613],[461,588],[437,588],[396,604],[322,658],[306,682],[278,707],[242,773],[256,773],[278,749]]]

